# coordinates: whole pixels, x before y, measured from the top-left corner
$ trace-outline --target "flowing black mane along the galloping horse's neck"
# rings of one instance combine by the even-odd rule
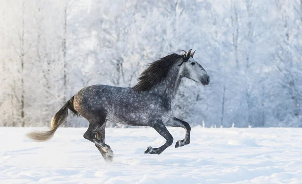
[[[150,90],[154,85],[166,78],[173,64],[183,56],[173,53],[150,63],[149,67],[139,76],[138,83],[133,89],[138,91]]]

